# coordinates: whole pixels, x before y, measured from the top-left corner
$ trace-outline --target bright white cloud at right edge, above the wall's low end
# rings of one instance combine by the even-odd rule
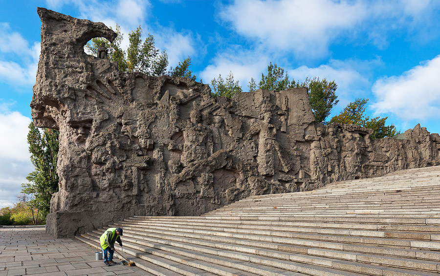
[[[440,114],[440,55],[373,85],[376,114],[394,113],[402,120],[438,119]]]

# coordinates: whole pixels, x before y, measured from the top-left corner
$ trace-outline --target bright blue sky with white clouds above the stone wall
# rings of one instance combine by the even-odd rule
[[[0,2],[0,208],[32,170],[29,103],[40,53],[37,6],[121,25],[141,25],[176,66],[191,56],[204,83],[230,71],[247,91],[269,62],[297,81],[335,80],[331,116],[358,97],[369,116],[405,131],[440,132],[440,1],[430,0],[46,0]],[[123,41],[126,47],[127,39]]]

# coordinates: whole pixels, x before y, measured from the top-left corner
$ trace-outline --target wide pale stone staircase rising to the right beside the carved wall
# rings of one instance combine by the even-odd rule
[[[440,166],[110,227],[145,275],[440,276]],[[104,231],[77,238],[99,247]]]

